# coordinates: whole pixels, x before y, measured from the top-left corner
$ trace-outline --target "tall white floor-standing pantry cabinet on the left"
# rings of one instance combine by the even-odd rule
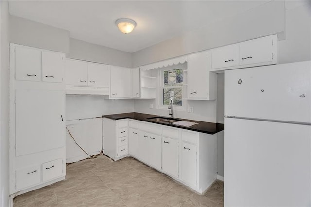
[[[10,194],[66,175],[65,54],[10,44]]]

